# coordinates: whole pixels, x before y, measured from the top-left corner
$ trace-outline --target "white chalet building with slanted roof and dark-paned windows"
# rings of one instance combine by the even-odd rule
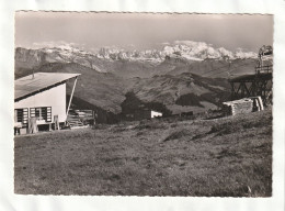
[[[36,126],[65,123],[80,74],[36,73],[14,81],[14,129],[29,133],[31,120]],[[66,104],[66,82],[73,79],[72,92]],[[30,131],[31,133],[31,131]]]

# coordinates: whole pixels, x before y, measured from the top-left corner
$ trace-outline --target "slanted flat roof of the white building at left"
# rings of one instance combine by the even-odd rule
[[[79,75],[80,74],[35,73],[34,78],[33,75],[19,78],[14,82],[14,100],[22,100],[29,96],[66,82],[68,79],[78,77]]]

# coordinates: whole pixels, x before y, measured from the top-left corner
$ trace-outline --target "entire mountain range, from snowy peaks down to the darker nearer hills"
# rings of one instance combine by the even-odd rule
[[[217,109],[229,97],[227,78],[254,73],[255,63],[255,53],[232,53],[192,41],[148,51],[18,47],[15,78],[33,70],[79,73],[75,97],[112,113],[122,112],[129,92],[146,103],[161,103],[170,113],[195,113]]]

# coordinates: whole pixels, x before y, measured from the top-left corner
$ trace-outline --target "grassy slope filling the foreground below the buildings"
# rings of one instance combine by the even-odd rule
[[[16,193],[270,197],[271,110],[15,137]]]

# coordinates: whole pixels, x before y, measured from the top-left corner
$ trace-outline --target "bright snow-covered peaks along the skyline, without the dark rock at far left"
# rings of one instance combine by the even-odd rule
[[[182,58],[189,62],[212,59],[237,59],[237,58],[256,58],[256,53],[246,52],[238,48],[237,52],[230,52],[224,47],[215,48],[212,44],[194,41],[175,41],[172,44],[161,44],[161,49],[126,49],[122,47],[111,46],[101,47],[99,49],[88,49],[82,45],[75,43],[56,44],[36,44],[33,49],[49,54],[47,59],[49,62],[79,62],[87,63],[88,67],[92,67],[92,58],[100,58],[106,60],[129,60],[129,62],[149,62],[153,64],[161,63],[167,56],[170,58]],[[82,60],[83,59],[83,60]],[[87,60],[86,60],[87,59]],[[95,64],[93,64],[95,65]]]

